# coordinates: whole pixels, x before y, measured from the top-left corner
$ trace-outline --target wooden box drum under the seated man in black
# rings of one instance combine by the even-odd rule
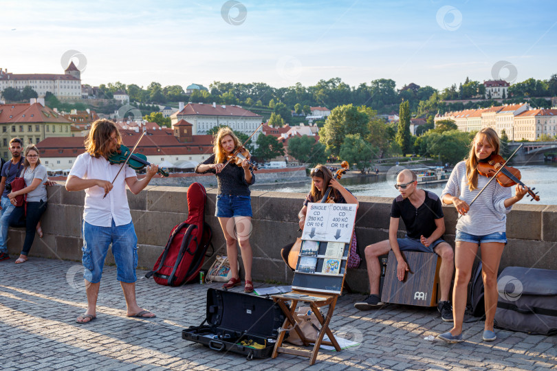
[[[397,258],[389,252],[381,301],[417,306],[437,306],[441,259],[437,254],[401,251],[408,264],[404,281],[397,278]]]

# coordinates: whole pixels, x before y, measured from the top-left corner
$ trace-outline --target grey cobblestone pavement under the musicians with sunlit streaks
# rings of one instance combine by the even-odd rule
[[[138,271],[143,277],[144,271]],[[307,358],[279,355],[254,359],[210,350],[183,340],[181,331],[204,320],[206,289],[219,284],[179,288],[138,280],[138,302],[155,319],[125,317],[116,267],[105,267],[97,319],[75,323],[84,312],[83,268],[77,262],[30,258],[15,265],[0,262],[0,368],[7,370],[540,370],[557,368],[557,337],[498,331],[496,341],[481,341],[482,322],[465,324],[461,344],[426,341],[450,328],[435,308],[390,305],[360,312],[343,295],[331,328],[361,339],[342,352]],[[261,286],[256,282],[256,286]],[[239,287],[234,290],[239,291]],[[341,335],[342,336],[342,335]]]

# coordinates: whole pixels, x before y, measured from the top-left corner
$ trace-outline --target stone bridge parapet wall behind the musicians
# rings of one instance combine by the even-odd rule
[[[49,202],[43,216],[44,238],[36,237],[30,256],[79,261],[82,240],[80,227],[85,192],[67,192],[61,185],[48,187]],[[213,229],[215,253],[226,255],[221,227],[215,216],[216,189],[208,189],[206,221]],[[253,232],[250,238],[254,253],[253,278],[273,282],[292,282],[292,273],[280,256],[281,247],[293,243],[297,236],[298,218],[304,194],[252,192]],[[140,194],[128,191],[131,216],[138,235],[139,266],[152,268],[166,245],[172,227],[184,221],[188,212],[186,188],[148,186]],[[391,199],[358,197],[360,208],[356,217],[356,236],[363,256],[364,247],[388,238]],[[446,234],[454,246],[457,213],[444,207]],[[485,221],[489,223],[489,221]],[[400,223],[400,235],[404,223]],[[557,269],[557,205],[515,205],[508,214],[507,238],[501,267],[521,266]],[[10,229],[10,254],[21,251],[25,232]],[[205,267],[212,263],[209,259]],[[109,253],[107,263],[113,262]],[[360,269],[350,269],[347,281],[356,291],[367,291],[367,275],[362,261]]]

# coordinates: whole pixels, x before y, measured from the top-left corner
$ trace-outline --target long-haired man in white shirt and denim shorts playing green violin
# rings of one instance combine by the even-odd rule
[[[111,164],[108,158],[121,142],[116,124],[110,120],[96,120],[85,138],[86,152],[77,157],[66,181],[68,191],[85,190],[82,262],[87,310],[77,317],[78,324],[87,324],[96,318],[100,277],[109,245],[112,245],[116,260],[117,279],[124,291],[127,316],[155,317],[154,313],[144,310],[135,301],[138,238],[131,221],[126,186],[133,194],[138,194],[149,184],[158,167],[148,166],[146,177],[139,180],[135,170],[127,164]]]

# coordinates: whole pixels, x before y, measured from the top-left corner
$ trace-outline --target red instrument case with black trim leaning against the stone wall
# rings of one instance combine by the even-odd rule
[[[180,286],[197,278],[211,245],[212,230],[205,223],[207,194],[201,183],[188,188],[188,218],[173,227],[168,242],[152,271],[145,277],[164,286]],[[214,248],[213,248],[214,250]],[[209,254],[208,256],[211,256]]]

